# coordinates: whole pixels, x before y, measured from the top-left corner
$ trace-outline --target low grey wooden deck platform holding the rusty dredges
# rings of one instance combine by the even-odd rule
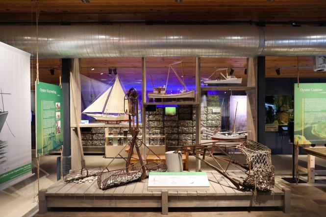
[[[207,172],[210,182],[205,192],[149,192],[148,179],[102,191],[97,182],[65,183],[60,180],[39,192],[39,213],[48,207],[161,207],[168,214],[169,207],[283,207],[290,212],[291,192],[277,185],[269,193],[258,193],[253,200],[251,192],[237,190],[218,172]],[[240,172],[233,172],[240,176]]]

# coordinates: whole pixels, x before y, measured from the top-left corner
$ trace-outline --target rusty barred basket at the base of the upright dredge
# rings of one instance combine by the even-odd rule
[[[145,164],[146,178],[150,172],[166,172],[167,165],[165,163],[147,162]],[[140,162],[133,164],[124,169],[115,170],[103,170],[98,177],[98,186],[102,190],[106,190],[113,187],[122,186],[131,182],[137,182],[141,180],[143,173]]]

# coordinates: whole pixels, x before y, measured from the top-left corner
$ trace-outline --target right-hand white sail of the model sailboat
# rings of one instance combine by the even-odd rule
[[[119,77],[117,76],[112,86],[110,96],[107,100],[104,113],[125,114],[124,101],[125,101],[125,92],[122,89],[122,86],[119,81]]]

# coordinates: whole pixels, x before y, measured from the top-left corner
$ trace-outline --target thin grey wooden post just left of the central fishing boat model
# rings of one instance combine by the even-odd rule
[[[146,144],[146,59],[142,57],[142,137]],[[143,146],[143,159],[146,160],[146,147]]]

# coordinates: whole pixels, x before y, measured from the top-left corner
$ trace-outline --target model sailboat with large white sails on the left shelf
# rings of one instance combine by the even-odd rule
[[[128,121],[125,115],[125,91],[116,75],[113,86],[98,96],[83,112],[97,121],[120,122]]]

